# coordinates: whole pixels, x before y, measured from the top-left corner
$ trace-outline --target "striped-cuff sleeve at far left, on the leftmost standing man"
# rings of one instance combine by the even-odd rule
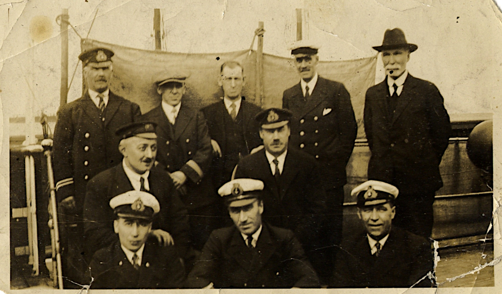
[[[58,203],[75,195],[72,162],[73,136],[71,109],[63,106],[58,112],[52,149],[54,183]]]

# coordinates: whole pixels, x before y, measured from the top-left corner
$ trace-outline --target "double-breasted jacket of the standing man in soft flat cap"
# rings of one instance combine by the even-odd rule
[[[181,198],[189,210],[218,200],[209,177],[212,158],[211,138],[202,112],[182,103],[175,124],[169,122],[162,105],[142,116],[157,123],[156,160],[169,173],[182,171],[187,180]]]

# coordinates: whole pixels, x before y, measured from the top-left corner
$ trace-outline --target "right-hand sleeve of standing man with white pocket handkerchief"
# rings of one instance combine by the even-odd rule
[[[338,107],[335,108],[335,117],[338,121],[338,135],[326,146],[326,154],[328,157],[335,158],[346,165],[354,149],[355,138],[357,136],[357,122],[352,103],[350,102],[350,94],[343,84],[339,85],[333,99],[338,104]]]

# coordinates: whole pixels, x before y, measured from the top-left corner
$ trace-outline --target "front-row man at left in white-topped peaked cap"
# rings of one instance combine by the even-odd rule
[[[179,288],[185,269],[176,250],[159,247],[149,238],[160,204],[152,194],[129,191],[109,203],[115,214],[113,229],[119,242],[98,250],[90,263],[92,288]]]

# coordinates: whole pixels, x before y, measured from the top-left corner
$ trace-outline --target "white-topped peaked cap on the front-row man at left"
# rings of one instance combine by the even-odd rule
[[[124,218],[151,219],[160,211],[160,204],[155,196],[136,190],[113,197],[109,204],[117,216]]]

